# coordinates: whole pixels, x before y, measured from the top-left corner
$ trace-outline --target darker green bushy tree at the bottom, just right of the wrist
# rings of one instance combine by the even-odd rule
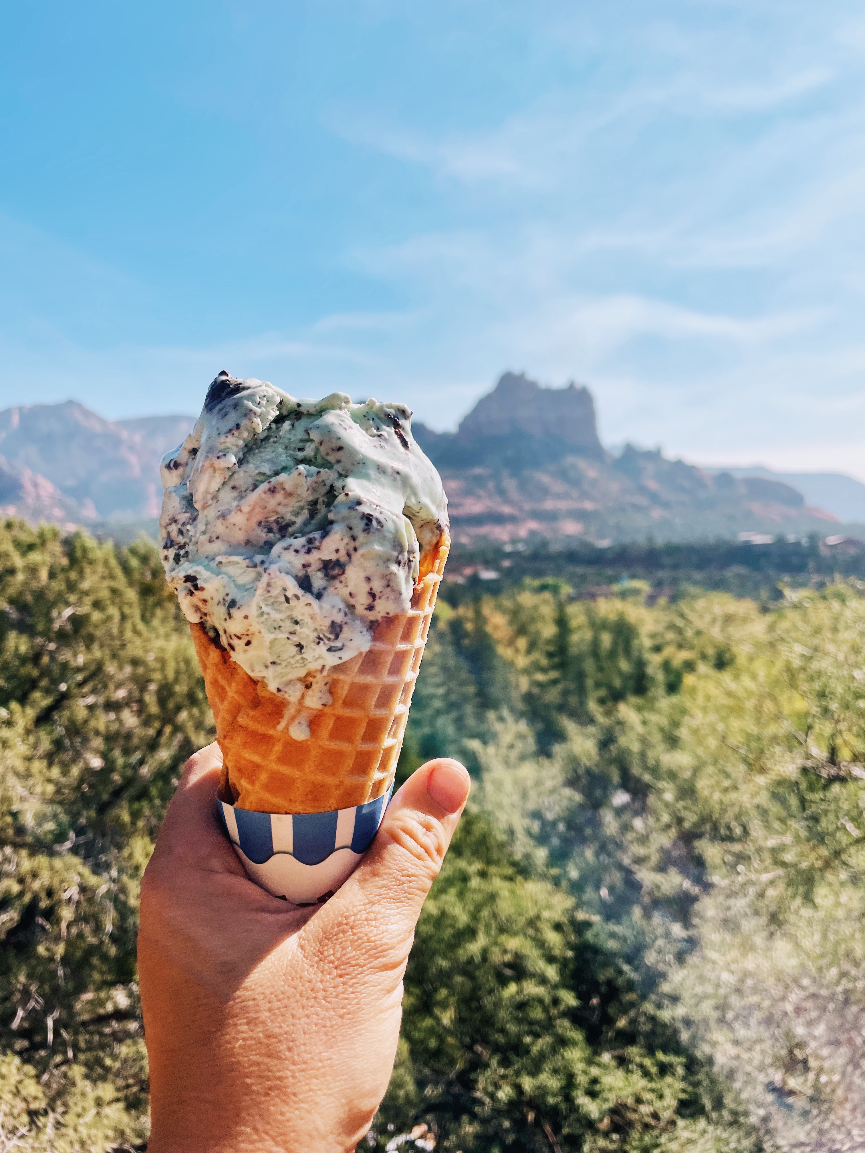
[[[475,814],[418,927],[397,1075],[370,1135],[442,1151],[760,1147],[592,919]]]

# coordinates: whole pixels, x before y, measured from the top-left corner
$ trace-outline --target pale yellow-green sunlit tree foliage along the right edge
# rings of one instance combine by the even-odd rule
[[[550,756],[507,726],[482,801],[537,875],[601,920],[647,1003],[762,1118],[769,1147],[853,1141],[865,1064],[865,597],[772,608],[691,596],[630,610],[645,695],[571,725]],[[811,1143],[811,1144],[810,1144]]]

